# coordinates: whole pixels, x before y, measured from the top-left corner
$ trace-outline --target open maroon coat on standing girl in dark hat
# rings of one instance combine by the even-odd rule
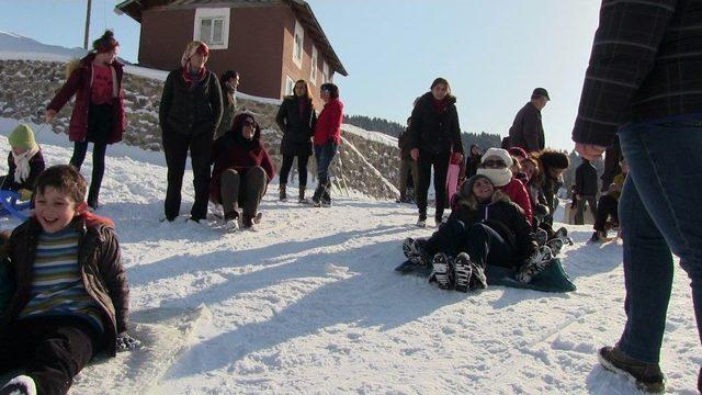
[[[56,97],[48,104],[47,110],[54,110],[59,112],[61,108],[76,95],[76,104],[73,105],[73,113],[70,116],[70,124],[68,126],[68,138],[71,142],[82,142],[88,135],[88,110],[90,109],[90,87],[92,84],[92,60],[95,58],[94,54],[88,54],[84,58],[80,59],[78,67],[76,67],[68,77],[68,80],[61,89],[56,93]],[[112,99],[112,108],[114,109],[114,124],[112,133],[107,137],[107,144],[113,144],[122,140],[122,134],[126,127],[126,117],[124,115],[124,92],[122,90],[122,64],[116,60],[110,65],[115,71],[117,97]],[[68,66],[69,68],[71,65]]]

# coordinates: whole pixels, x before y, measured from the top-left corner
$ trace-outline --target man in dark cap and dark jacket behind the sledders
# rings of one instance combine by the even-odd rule
[[[512,127],[509,128],[510,147],[520,147],[526,153],[535,153],[544,149],[544,126],[541,122],[541,110],[551,99],[543,88],[534,89],[531,100],[519,110]]]

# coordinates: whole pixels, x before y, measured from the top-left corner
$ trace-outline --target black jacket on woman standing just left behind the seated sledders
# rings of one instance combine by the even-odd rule
[[[456,99],[448,95],[449,103],[442,111],[437,111],[433,100],[431,92],[427,92],[412,110],[408,142],[410,150],[419,148],[420,157],[422,154],[463,154]]]

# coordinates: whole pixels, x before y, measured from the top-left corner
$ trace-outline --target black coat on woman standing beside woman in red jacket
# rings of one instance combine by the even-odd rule
[[[285,156],[310,156],[312,136],[317,125],[317,113],[312,103],[299,112],[299,98],[286,97],[283,100],[275,123],[283,132],[281,154]]]

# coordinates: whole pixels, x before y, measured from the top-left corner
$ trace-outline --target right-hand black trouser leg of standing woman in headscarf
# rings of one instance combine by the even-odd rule
[[[195,201],[190,211],[192,219],[200,221],[207,217],[207,202],[210,196],[210,161],[212,151],[212,133],[192,136],[190,139],[190,160],[193,166],[193,187]]]

